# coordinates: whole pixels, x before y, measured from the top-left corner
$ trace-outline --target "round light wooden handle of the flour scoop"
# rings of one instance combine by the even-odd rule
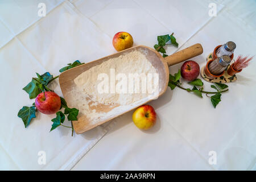
[[[191,47],[176,52],[171,56],[167,56],[164,59],[167,61],[168,66],[170,67],[174,64],[191,59],[192,57],[201,55],[201,53],[203,53],[203,47],[201,46],[201,44],[195,44]]]

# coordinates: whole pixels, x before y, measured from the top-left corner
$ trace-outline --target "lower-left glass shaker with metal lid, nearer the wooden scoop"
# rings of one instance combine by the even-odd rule
[[[229,56],[221,56],[209,63],[208,69],[212,75],[220,75],[228,67],[231,59]]]

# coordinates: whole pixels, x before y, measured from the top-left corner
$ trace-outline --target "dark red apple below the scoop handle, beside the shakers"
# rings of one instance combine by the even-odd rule
[[[180,69],[181,76],[187,81],[195,80],[200,73],[200,67],[196,61],[185,61]]]

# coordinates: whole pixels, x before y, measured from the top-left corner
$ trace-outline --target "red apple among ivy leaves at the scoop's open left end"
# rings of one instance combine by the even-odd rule
[[[35,100],[36,109],[44,114],[54,114],[60,110],[60,97],[54,92],[42,92]]]

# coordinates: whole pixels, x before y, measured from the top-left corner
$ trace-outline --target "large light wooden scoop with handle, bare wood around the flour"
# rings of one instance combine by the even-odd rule
[[[90,63],[82,64],[79,67],[75,67],[72,69],[68,69],[67,71],[63,72],[59,76],[59,82],[60,82],[60,88],[63,93],[63,96],[65,100],[67,101],[68,105],[71,104],[70,100],[70,94],[72,88],[76,87],[76,84],[74,82],[74,79],[79,76],[82,72],[103,63],[104,61],[108,61],[109,59],[113,57],[118,57],[122,55],[123,53],[128,53],[131,51],[140,51],[142,52],[148,59],[148,61],[151,62],[153,67],[156,69],[156,71],[159,73],[159,96],[161,96],[164,92],[166,92],[168,81],[169,81],[169,69],[171,65],[180,63],[182,61],[185,61],[187,59],[191,59],[192,57],[201,55],[203,53],[203,48],[201,44],[195,44],[191,47],[188,47],[186,49],[183,49],[179,52],[174,53],[171,56],[163,57],[160,55],[159,52],[155,51],[154,49],[146,46],[136,46],[129,49],[125,49],[124,51],[114,53],[113,55],[103,57],[101,59],[92,61]],[[143,69],[143,68],[142,68]],[[77,134],[81,134],[85,131],[88,131],[90,129],[93,129],[94,127],[101,125],[102,123],[105,123],[109,121],[110,119],[113,119],[115,117],[118,117],[121,114],[127,113],[130,110],[135,109],[136,107],[146,104],[147,102],[151,101],[150,98],[148,100],[143,100],[142,102],[139,102],[138,104],[132,104],[131,107],[127,107],[126,110],[117,112],[116,114],[112,114],[111,117],[107,119],[101,119],[98,118],[97,121],[90,121],[89,118],[86,117],[86,115],[79,114],[78,121],[73,121],[73,127]],[[137,103],[137,102],[136,102]],[[92,101],[93,104],[93,101]],[[90,104],[91,105],[91,104]],[[89,105],[89,107],[90,107]],[[79,108],[77,108],[79,109]],[[95,109],[97,112],[104,112],[108,113],[110,110],[114,109],[114,107],[110,107],[109,105],[92,105],[90,107],[91,110]]]

